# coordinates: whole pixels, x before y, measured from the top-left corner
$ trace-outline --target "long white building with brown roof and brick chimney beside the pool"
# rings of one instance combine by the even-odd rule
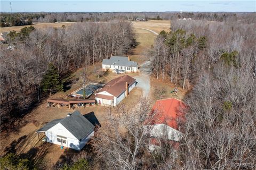
[[[118,105],[136,86],[136,80],[129,75],[109,81],[96,95],[95,100],[100,105]]]

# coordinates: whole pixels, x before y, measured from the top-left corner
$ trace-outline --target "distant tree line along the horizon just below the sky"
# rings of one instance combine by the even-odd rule
[[[1,13],[1,27],[32,24],[32,22],[106,22],[113,20],[177,20],[191,18],[209,21],[256,21],[255,13],[243,12],[41,12],[41,13]]]

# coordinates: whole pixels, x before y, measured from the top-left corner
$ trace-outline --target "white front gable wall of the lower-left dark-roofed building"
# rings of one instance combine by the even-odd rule
[[[62,124],[58,123],[53,126],[51,129],[45,132],[47,142],[54,143],[56,145],[61,145],[57,141],[57,135],[66,137],[67,145],[69,148],[79,150],[79,140],[77,140],[73,134],[71,134]]]

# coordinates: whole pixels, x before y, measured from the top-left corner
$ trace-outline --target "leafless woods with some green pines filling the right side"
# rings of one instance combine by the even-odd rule
[[[176,20],[155,40],[154,76],[192,89],[173,169],[255,166],[255,24]]]

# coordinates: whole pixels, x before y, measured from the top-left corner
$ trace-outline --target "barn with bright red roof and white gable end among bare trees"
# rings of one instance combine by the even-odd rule
[[[150,137],[150,151],[159,146],[161,139],[170,140],[174,145],[181,140],[182,132],[179,125],[185,121],[185,108],[185,103],[175,98],[156,101],[151,111],[151,114],[154,113],[153,121],[145,125]]]

